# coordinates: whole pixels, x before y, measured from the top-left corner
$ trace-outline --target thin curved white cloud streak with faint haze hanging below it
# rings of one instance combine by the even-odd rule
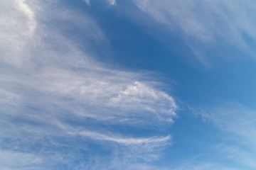
[[[129,166],[139,162],[155,161],[159,159],[160,151],[171,145],[170,135],[166,137],[124,137],[92,131],[82,131],[78,134],[98,143],[107,143],[108,146],[119,147],[117,153],[122,158],[119,161],[129,162]]]

